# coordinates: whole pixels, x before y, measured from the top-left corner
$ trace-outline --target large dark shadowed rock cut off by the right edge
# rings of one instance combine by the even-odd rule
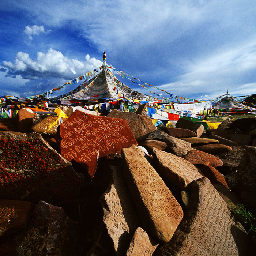
[[[237,170],[240,198],[252,208],[256,208],[256,147],[248,148]]]

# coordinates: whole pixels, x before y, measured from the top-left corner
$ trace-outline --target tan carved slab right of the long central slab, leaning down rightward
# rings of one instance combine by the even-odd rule
[[[153,158],[162,176],[180,189],[184,189],[193,180],[203,177],[195,165],[182,157],[153,149]]]

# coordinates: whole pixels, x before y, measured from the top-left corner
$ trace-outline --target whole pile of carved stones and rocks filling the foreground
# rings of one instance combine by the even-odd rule
[[[256,118],[156,130],[145,108],[0,120],[0,255],[254,255],[230,210],[256,212]]]

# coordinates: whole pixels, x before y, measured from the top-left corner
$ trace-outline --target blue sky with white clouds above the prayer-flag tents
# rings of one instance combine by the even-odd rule
[[[104,50],[114,68],[174,95],[256,93],[253,0],[2,0],[0,12],[0,96],[63,85]]]

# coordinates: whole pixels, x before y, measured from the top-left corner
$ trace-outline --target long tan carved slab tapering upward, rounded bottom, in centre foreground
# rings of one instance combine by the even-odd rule
[[[143,229],[155,240],[168,242],[183,217],[181,206],[136,146],[123,148],[121,154]]]

